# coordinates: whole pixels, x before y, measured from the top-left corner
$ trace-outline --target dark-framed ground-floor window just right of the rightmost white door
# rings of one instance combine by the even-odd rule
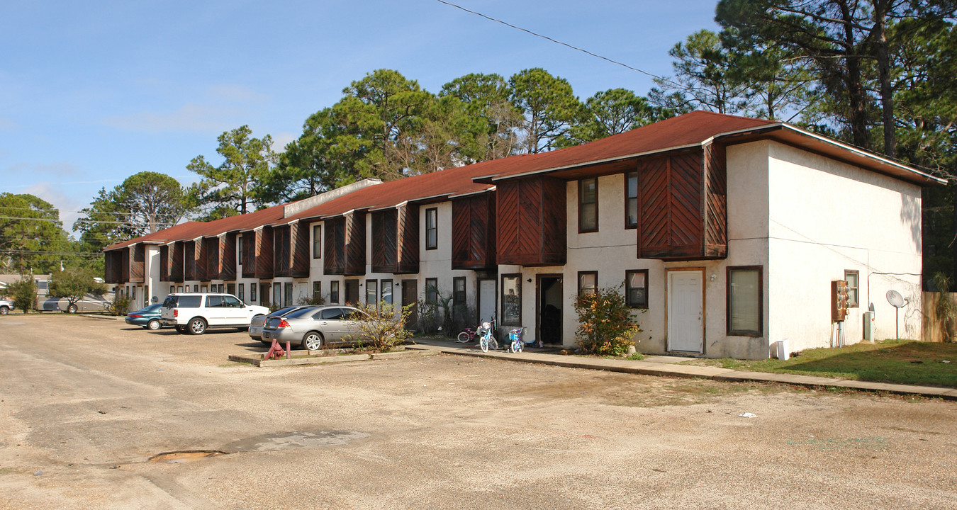
[[[727,334],[763,336],[761,266],[727,268]]]

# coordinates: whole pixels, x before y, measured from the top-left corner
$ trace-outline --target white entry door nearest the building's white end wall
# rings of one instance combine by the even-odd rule
[[[668,272],[668,350],[702,351],[703,279],[701,271]]]

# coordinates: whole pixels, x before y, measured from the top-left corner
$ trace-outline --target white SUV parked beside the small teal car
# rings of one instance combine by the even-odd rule
[[[257,315],[268,314],[269,308],[245,304],[232,294],[170,294],[163,301],[161,322],[180,333],[202,335],[211,327],[245,329]]]

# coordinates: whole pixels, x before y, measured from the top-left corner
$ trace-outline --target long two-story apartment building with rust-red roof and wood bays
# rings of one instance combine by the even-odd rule
[[[644,352],[767,358],[849,342],[888,290],[921,331],[921,188],[943,181],[783,122],[693,112],[604,140],[380,183],[105,249],[137,304],[216,288],[250,303],[396,304],[430,284],[475,322],[574,345],[576,293],[620,286]]]

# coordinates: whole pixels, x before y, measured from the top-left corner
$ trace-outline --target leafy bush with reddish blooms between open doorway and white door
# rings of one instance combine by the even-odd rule
[[[575,338],[586,354],[623,356],[629,345],[634,345],[634,335],[641,332],[641,324],[634,320],[633,310],[619,289],[599,288],[575,298]]]

